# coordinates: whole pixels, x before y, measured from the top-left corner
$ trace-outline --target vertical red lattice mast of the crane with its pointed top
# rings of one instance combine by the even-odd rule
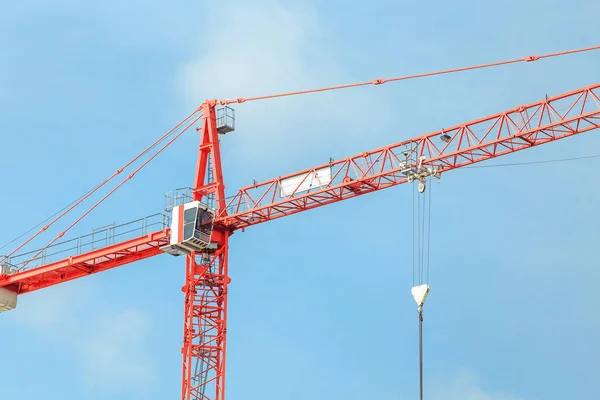
[[[225,186],[221,168],[215,101],[202,105],[202,136],[194,180],[194,199],[225,213]],[[210,160],[210,161],[209,161]],[[212,182],[207,168],[212,168]],[[216,227],[211,242],[216,250],[186,256],[183,325],[182,399],[225,398],[225,332],[227,330],[228,237],[231,231]],[[217,239],[218,238],[218,239]]]

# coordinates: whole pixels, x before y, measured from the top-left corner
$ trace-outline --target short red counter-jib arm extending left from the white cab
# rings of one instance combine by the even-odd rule
[[[160,247],[168,243],[168,230],[149,233],[136,239],[86,254],[71,256],[16,274],[0,275],[0,287],[13,290],[18,294],[29,293],[162,254]]]

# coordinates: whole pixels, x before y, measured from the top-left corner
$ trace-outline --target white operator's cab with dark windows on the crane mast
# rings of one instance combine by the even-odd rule
[[[173,207],[171,241],[161,250],[174,256],[201,252],[210,247],[215,210],[192,201]]]

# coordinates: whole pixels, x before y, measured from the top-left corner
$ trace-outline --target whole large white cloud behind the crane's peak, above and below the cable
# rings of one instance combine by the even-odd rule
[[[312,89],[364,80],[336,57],[336,41],[304,4],[219,5],[214,26],[204,26],[200,46],[178,72],[189,102]],[[372,77],[370,77],[372,78]],[[366,79],[370,79],[366,78]],[[234,105],[236,137],[228,150],[244,161],[281,161],[303,151],[347,151],[373,145],[386,115],[383,92],[345,89]],[[390,114],[387,114],[390,115]],[[318,145],[324,149],[317,149]],[[341,148],[341,149],[340,149]],[[353,150],[354,151],[354,150]],[[318,157],[322,157],[319,154]],[[350,154],[348,154],[350,155]],[[327,158],[328,159],[328,158]]]

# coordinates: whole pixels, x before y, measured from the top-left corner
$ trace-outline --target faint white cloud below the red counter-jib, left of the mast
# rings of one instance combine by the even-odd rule
[[[123,386],[147,385],[155,375],[155,362],[147,337],[149,316],[136,309],[96,317],[92,288],[78,282],[58,285],[19,297],[17,308],[2,316],[14,326],[39,334],[32,346],[52,346],[74,356],[82,379],[90,386],[111,391]],[[93,314],[91,323],[86,314]],[[82,317],[83,316],[83,317]],[[10,329],[10,327],[9,327]]]

